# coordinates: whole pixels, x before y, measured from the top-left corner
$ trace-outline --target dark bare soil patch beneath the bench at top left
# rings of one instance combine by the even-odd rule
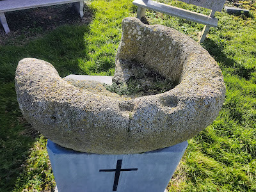
[[[11,33],[6,35],[3,26],[0,25],[0,44],[20,35],[24,35],[25,39],[33,38],[58,26],[89,24],[93,13],[84,4],[84,17],[81,18],[76,8],[69,3],[6,12],[5,15]]]

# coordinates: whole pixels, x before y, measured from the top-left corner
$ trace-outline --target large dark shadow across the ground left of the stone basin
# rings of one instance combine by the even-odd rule
[[[14,77],[19,60],[38,58],[48,61],[60,76],[65,77],[82,74],[78,60],[88,58],[84,34],[90,32],[88,21],[92,20],[92,11],[85,7],[85,16],[80,19],[68,5],[56,6],[56,12],[52,9],[10,12],[6,17],[12,33],[6,36],[0,28],[0,191],[15,188],[17,178],[25,171],[29,149],[38,138],[37,131],[24,120],[17,104]],[[49,17],[47,10],[57,19]],[[74,14],[68,15],[69,12]],[[31,13],[36,14],[29,17]],[[42,18],[48,18],[49,22]]]

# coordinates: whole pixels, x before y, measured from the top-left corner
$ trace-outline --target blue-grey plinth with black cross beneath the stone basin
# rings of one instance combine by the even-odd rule
[[[48,140],[47,150],[59,192],[164,191],[188,142],[141,154],[76,152]]]

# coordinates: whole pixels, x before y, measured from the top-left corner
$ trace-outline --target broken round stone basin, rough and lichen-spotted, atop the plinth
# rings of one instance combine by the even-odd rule
[[[124,19],[122,28],[115,81],[132,76],[129,63],[136,62],[179,84],[127,99],[99,83],[65,81],[46,61],[21,60],[15,77],[20,109],[54,143],[97,154],[140,153],[186,141],[218,116],[225,84],[205,49],[174,29],[136,18]]]

